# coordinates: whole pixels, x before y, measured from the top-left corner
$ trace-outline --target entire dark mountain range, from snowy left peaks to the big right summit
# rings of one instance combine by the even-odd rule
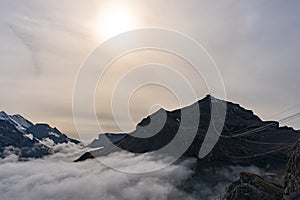
[[[199,158],[199,151],[207,137],[212,123],[212,105],[226,105],[223,129],[214,134],[220,137],[212,151]],[[210,95],[198,102],[173,111],[160,109],[138,123],[131,133],[100,134],[89,147],[101,149],[86,152],[76,161],[84,161],[105,156],[120,150],[132,153],[157,151],[170,144],[177,134],[175,148],[191,139],[195,131],[192,121],[197,118],[196,134],[180,159],[196,158],[195,174],[187,181],[189,190],[195,182],[207,179],[208,184],[216,185],[212,178],[216,171],[230,166],[256,166],[262,171],[276,176],[276,181],[268,176],[242,172],[240,179],[228,186],[220,197],[222,200],[238,199],[299,199],[300,196],[300,132],[289,127],[280,127],[276,121],[262,121],[253,111],[238,104],[216,99]],[[184,113],[184,115],[183,115]],[[183,118],[185,122],[183,123]],[[220,119],[213,121],[218,126]],[[213,126],[214,127],[214,126]],[[296,141],[299,141],[296,143]],[[20,115],[7,115],[0,112],[0,157],[13,152],[20,158],[40,158],[51,153],[51,145],[59,143],[79,143],[67,137],[48,124],[33,124]],[[177,145],[177,146],[176,146]],[[169,152],[169,156],[173,156]],[[284,177],[284,179],[282,178]],[[278,182],[279,181],[279,182]],[[282,184],[284,182],[284,184]]]

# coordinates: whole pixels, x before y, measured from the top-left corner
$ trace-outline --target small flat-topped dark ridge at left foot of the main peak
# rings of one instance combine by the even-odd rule
[[[116,143],[123,139],[127,134],[122,133],[105,133],[99,134],[97,139],[94,139],[88,147],[90,148],[98,148],[98,147],[106,147],[111,145],[112,143]]]

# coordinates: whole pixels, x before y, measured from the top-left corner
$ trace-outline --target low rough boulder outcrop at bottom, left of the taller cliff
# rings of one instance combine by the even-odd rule
[[[283,187],[248,172],[241,172],[240,179],[232,183],[222,200],[280,200]]]

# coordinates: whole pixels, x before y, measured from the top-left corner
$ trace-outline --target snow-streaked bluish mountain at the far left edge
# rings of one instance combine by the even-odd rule
[[[21,115],[8,115],[0,112],[0,157],[10,153],[20,158],[40,158],[51,153],[52,144],[79,141],[68,138],[58,129],[48,124],[33,124]]]

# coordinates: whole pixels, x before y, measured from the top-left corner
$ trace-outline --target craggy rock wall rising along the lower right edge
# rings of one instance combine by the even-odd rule
[[[300,199],[300,141],[289,154],[285,176],[285,193],[287,199]]]

